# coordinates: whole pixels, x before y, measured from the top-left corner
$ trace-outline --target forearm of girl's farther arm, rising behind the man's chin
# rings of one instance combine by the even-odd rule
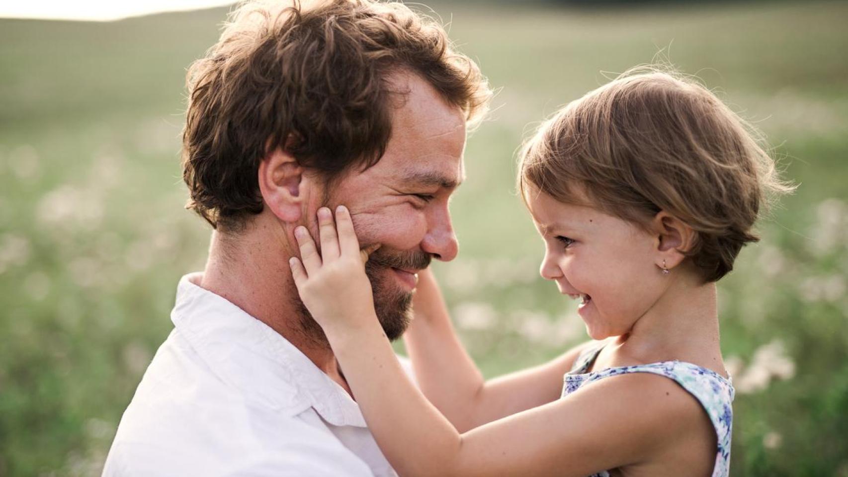
[[[419,274],[413,305],[404,342],[421,391],[457,430],[470,430],[485,381],[456,335],[432,270]]]

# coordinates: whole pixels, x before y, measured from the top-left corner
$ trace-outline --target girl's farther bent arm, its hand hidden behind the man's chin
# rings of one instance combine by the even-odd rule
[[[416,380],[424,396],[460,432],[555,401],[562,391],[562,374],[586,346],[574,347],[550,363],[486,381],[456,335],[430,269],[418,274],[413,308],[415,319],[404,342]]]

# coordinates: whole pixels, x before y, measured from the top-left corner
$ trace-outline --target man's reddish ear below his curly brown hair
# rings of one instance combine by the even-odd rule
[[[304,169],[281,147],[271,149],[259,163],[259,193],[283,222],[297,222],[303,214],[303,180]]]

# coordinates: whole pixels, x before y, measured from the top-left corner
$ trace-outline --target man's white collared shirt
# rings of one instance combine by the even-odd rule
[[[200,278],[180,280],[103,476],[395,476],[347,391]]]

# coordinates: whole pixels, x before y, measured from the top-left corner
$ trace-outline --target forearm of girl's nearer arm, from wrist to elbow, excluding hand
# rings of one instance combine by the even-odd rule
[[[377,319],[373,326],[327,337],[394,469],[404,476],[454,474],[460,434],[407,379]]]

